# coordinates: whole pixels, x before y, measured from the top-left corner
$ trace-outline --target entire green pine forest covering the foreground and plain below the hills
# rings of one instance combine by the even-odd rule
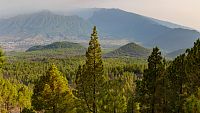
[[[200,40],[174,60],[103,58],[94,27],[85,55],[51,52],[0,51],[1,113],[200,113]]]

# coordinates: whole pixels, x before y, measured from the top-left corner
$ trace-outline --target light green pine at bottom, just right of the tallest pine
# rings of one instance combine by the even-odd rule
[[[124,113],[126,112],[126,81],[122,77],[108,80],[104,84],[100,113]]]

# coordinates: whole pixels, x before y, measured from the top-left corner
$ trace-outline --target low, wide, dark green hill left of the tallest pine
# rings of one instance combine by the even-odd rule
[[[38,50],[63,49],[63,48],[85,50],[85,48],[78,43],[64,41],[64,42],[54,42],[52,44],[44,45],[44,46],[42,46],[42,45],[33,46],[33,47],[29,48],[27,50],[27,52],[38,51]]]

